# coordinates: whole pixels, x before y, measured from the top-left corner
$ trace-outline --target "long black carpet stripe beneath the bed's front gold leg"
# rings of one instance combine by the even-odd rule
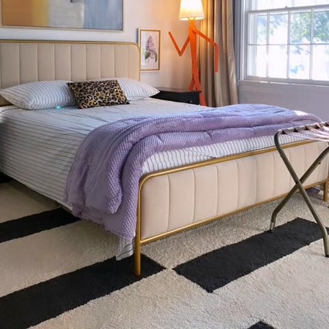
[[[110,258],[1,297],[0,328],[35,326],[163,269],[146,256],[142,255],[141,260],[142,274],[138,278],[133,274],[132,257],[120,261]]]

